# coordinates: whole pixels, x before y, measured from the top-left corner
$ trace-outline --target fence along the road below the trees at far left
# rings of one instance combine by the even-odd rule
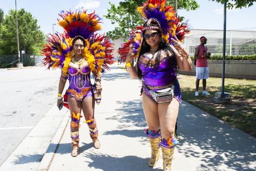
[[[34,66],[38,63],[42,63],[44,56],[21,54],[20,62],[23,66]],[[0,55],[0,68],[16,67],[18,63],[18,55]]]

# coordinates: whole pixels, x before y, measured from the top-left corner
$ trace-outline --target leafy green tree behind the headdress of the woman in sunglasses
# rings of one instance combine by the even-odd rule
[[[108,9],[108,13],[104,15],[107,19],[111,20],[111,23],[118,23],[118,27],[116,27],[113,31],[109,31],[106,33],[112,39],[118,39],[120,37],[129,36],[129,31],[137,26],[143,24],[143,18],[137,11],[137,7],[141,6],[144,2],[137,0],[124,0],[119,3],[118,6],[109,2],[110,9]],[[175,0],[167,0],[168,5],[174,6]],[[195,0],[179,0],[178,1],[178,9],[185,10],[195,10],[199,7]]]

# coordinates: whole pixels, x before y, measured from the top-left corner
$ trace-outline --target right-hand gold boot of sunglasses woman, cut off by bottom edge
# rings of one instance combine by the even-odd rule
[[[171,149],[164,148],[163,146],[161,146],[161,148],[162,148],[162,154],[163,154],[163,170],[171,171],[175,146]]]

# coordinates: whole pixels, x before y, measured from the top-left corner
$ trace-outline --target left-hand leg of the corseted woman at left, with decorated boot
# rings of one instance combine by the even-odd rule
[[[71,113],[71,139],[73,150],[71,155],[76,157],[78,155],[79,149],[79,123],[80,123],[80,113],[81,113],[81,102],[76,101],[75,97],[68,95],[68,103]]]

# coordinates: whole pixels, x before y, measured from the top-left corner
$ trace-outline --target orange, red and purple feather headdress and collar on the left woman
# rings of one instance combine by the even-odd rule
[[[109,69],[108,64],[113,63],[113,44],[105,39],[104,35],[95,34],[101,30],[100,18],[93,13],[83,11],[66,11],[59,14],[62,19],[58,19],[58,25],[65,32],[63,34],[50,34],[41,54],[46,56],[44,64],[49,68],[62,68],[64,73],[68,73],[68,66],[72,60],[72,41],[76,37],[82,37],[86,42],[83,56],[88,61],[90,69],[97,75]]]

